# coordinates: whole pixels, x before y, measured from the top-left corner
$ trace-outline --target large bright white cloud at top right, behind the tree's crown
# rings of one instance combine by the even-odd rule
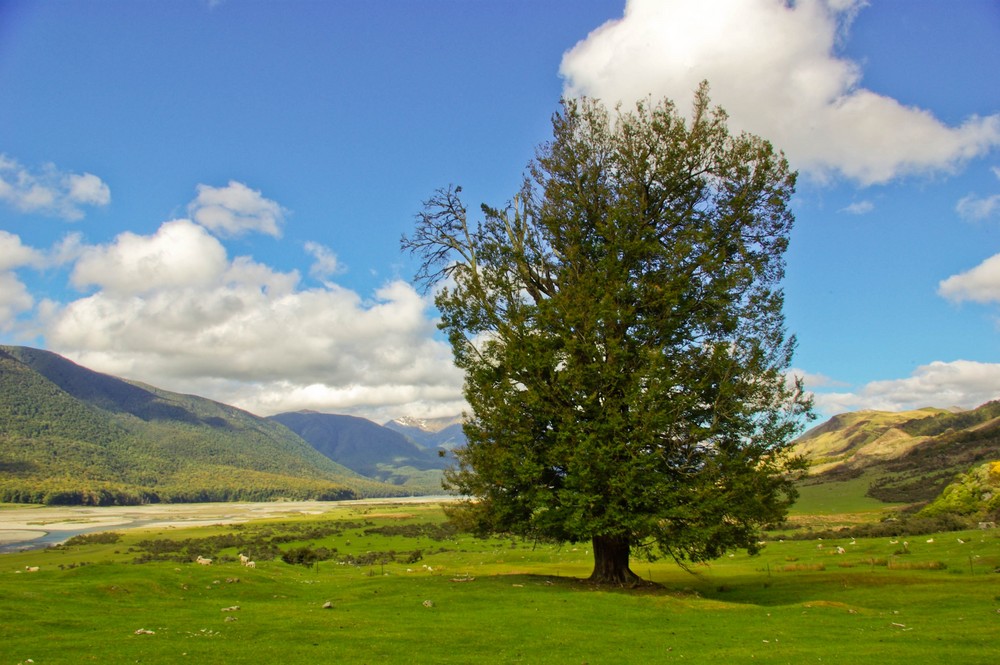
[[[837,54],[863,0],[628,0],[568,51],[565,93],[609,104],[666,96],[683,108],[702,80],[732,124],[770,139],[795,168],[861,184],[950,171],[1000,145],[1000,115],[945,125],[861,86]]]

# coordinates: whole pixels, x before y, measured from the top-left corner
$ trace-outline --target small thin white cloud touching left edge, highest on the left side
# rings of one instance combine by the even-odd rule
[[[53,164],[33,171],[0,154],[0,201],[21,212],[77,221],[83,206],[110,203],[111,190],[92,173],[63,172]]]

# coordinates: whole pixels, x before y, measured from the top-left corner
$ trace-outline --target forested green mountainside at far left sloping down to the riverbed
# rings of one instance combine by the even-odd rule
[[[0,347],[0,501],[338,499],[399,490],[336,464],[279,423]]]

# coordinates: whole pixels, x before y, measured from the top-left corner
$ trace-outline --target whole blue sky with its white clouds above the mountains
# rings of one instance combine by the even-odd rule
[[[707,79],[800,171],[786,317],[821,415],[974,407],[997,71],[996,0],[0,0],[0,343],[262,415],[458,413],[399,251],[421,202],[504,203],[563,95],[685,108]]]

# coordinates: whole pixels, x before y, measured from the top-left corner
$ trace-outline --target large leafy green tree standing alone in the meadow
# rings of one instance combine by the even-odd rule
[[[591,541],[599,583],[638,582],[631,555],[757,549],[810,408],[785,376],[794,185],[703,84],[690,118],[565,100],[508,205],[425,203],[403,247],[465,372],[447,481],[476,529]]]

